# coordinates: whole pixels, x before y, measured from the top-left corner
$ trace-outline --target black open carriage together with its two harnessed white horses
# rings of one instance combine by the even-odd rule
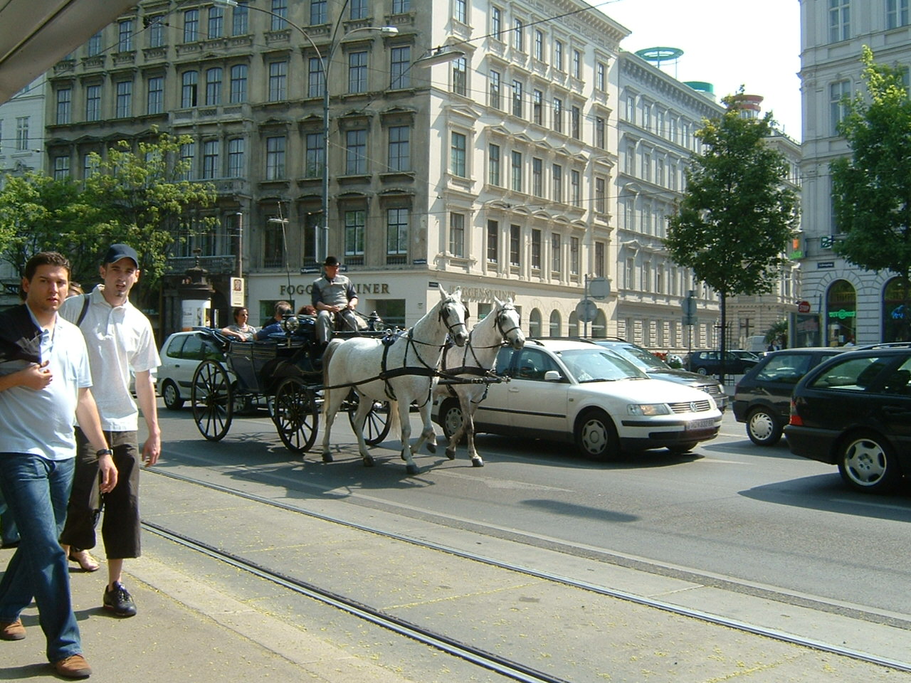
[[[459,392],[472,463],[480,466],[483,461],[471,441],[471,414],[482,399],[477,392],[483,394],[486,382],[499,381],[490,372],[496,350],[504,343],[519,348],[525,337],[511,302],[497,301],[496,310],[478,322],[472,331],[477,335],[474,347],[465,315],[459,292],[448,295],[440,288],[440,301],[414,327],[336,332],[325,350],[315,341],[309,317],[289,319],[286,334],[268,342],[231,342],[218,331],[209,330],[224,349],[225,360],[208,360],[197,368],[190,390],[193,418],[203,436],[218,441],[228,433],[239,392],[264,396],[271,400],[272,421],[282,443],[295,453],[303,453],[316,439],[322,412],[326,430],[322,460],[332,462],[329,442],[333,420],[339,410],[345,410],[365,465],[374,464],[366,446],[381,443],[394,419],[398,419],[402,459],[408,473],[416,474],[412,454],[425,441],[428,449],[435,452],[430,412],[439,381]],[[302,330],[306,327],[310,329]],[[449,353],[455,353],[454,358],[460,360],[446,364],[447,346]],[[465,352],[457,356],[463,348]],[[233,384],[229,369],[237,377]],[[409,440],[408,413],[413,404],[424,422],[415,444]],[[450,459],[455,457],[455,443],[463,433],[464,430],[455,434],[449,443],[446,455]]]

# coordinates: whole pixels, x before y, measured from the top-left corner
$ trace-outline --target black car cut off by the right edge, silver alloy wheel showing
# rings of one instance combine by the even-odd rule
[[[911,342],[840,353],[797,382],[784,428],[795,455],[838,465],[858,491],[911,474]]]

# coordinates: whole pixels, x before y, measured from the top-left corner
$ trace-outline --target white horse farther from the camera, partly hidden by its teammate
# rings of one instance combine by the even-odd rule
[[[525,335],[519,327],[519,315],[512,300],[506,302],[494,298],[496,308],[490,311],[484,320],[478,321],[468,335],[468,343],[464,348],[448,347],[440,362],[440,370],[445,376],[455,374],[456,377],[471,380],[485,377],[493,370],[496,354],[504,343],[514,349],[525,346]],[[458,410],[452,403],[443,403],[440,416],[445,422],[451,420],[450,427],[458,423],[457,428],[449,438],[446,446],[446,457],[455,458],[455,446],[467,435],[468,455],[474,467],[483,467],[484,460],[475,448],[475,411],[487,395],[486,383],[459,383],[448,384],[440,382],[437,385],[436,396],[449,396],[458,400]]]

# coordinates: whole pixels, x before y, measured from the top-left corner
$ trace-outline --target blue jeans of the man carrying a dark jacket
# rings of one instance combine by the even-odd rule
[[[82,652],[67,556],[57,542],[67,520],[74,462],[0,453],[0,490],[22,539],[0,580],[0,621],[15,621],[34,597],[51,662]]]

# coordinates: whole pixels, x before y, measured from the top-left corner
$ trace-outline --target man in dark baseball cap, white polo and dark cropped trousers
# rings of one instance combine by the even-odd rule
[[[136,605],[123,585],[123,561],[140,554],[139,466],[142,462],[156,464],[161,452],[151,377],[161,362],[148,318],[129,302],[129,292],[140,274],[136,250],[127,244],[111,245],[99,272],[103,283],[88,294],[67,299],[60,312],[76,322],[86,338],[98,413],[120,474],[118,485],[103,496],[101,538],[107,556],[107,586],[102,605],[118,617],[132,617]],[[137,401],[129,390],[130,372],[135,376]],[[141,456],[137,402],[148,431]],[[77,444],[76,475],[60,543],[70,550],[70,559],[84,570],[94,571],[97,562],[86,551],[95,547],[101,507],[98,464],[84,433],[77,431]]]

